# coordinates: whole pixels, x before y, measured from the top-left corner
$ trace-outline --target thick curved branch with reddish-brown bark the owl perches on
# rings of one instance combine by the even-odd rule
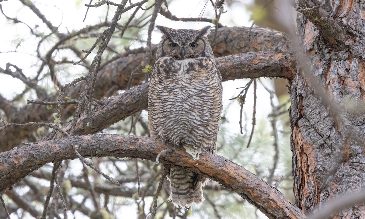
[[[84,157],[92,154],[94,157],[131,157],[151,161],[162,150],[171,148],[155,138],[107,134],[81,135],[35,143],[0,153],[0,193],[35,167],[77,158],[72,150],[73,145],[78,145],[78,152]],[[218,154],[201,154],[196,161],[185,150],[173,148],[173,151],[169,156],[162,155],[160,162],[188,168],[217,181],[255,205],[269,218],[306,218],[277,189],[242,166]]]

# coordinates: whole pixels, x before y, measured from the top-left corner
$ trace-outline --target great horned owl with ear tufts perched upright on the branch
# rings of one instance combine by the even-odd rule
[[[201,151],[216,153],[222,77],[207,38],[210,27],[156,27],[163,36],[148,93],[150,135],[184,147],[195,160]],[[202,187],[208,178],[180,167],[165,168],[171,183],[169,200],[176,207],[190,207],[204,200]]]

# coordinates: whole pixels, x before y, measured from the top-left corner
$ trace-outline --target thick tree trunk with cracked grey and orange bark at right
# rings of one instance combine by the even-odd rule
[[[298,10],[298,49],[307,63],[299,61],[290,88],[293,190],[295,204],[306,214],[365,189],[365,2],[317,2],[323,5],[299,2],[301,9],[314,8]],[[320,13],[334,22],[311,17]],[[342,29],[345,37],[331,28]],[[365,218],[365,206],[338,209],[331,217]]]

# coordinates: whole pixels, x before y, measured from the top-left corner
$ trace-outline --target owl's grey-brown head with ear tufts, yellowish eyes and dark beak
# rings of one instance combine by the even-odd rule
[[[207,35],[210,33],[210,26],[200,30],[176,30],[163,26],[156,27],[163,34],[157,49],[157,59],[161,57],[172,57],[175,59],[214,57],[207,38]]]

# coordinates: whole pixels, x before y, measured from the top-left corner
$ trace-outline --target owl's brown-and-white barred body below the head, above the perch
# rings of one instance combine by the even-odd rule
[[[195,159],[202,150],[215,151],[222,80],[214,59],[158,59],[148,101],[152,136],[184,146]]]

